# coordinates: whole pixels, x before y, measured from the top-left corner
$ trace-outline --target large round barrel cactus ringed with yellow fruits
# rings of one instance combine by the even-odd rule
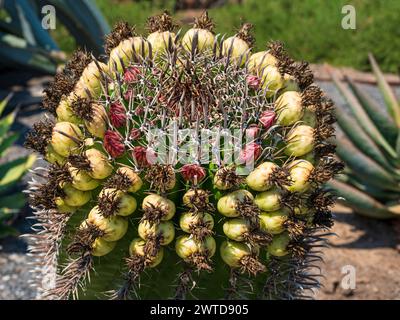
[[[281,43],[252,53],[251,27],[215,35],[204,13],[182,36],[163,13],[144,38],[119,23],[104,62],[78,51],[56,75],[26,139],[50,163],[29,191],[42,298],[318,286],[335,200],[321,186],[342,168],[333,104]]]

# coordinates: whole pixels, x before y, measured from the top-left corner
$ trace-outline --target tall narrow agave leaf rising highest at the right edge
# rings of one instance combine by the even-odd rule
[[[378,87],[382,92],[383,98],[385,99],[386,106],[389,113],[394,117],[397,127],[400,127],[400,105],[396,99],[393,90],[390,88],[389,84],[386,82],[385,77],[379,65],[377,64],[372,53],[368,54],[369,61],[372,66],[372,71],[375,74],[376,80],[378,81]]]

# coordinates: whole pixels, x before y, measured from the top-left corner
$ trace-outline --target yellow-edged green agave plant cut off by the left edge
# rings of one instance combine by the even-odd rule
[[[11,95],[0,103],[0,115],[4,111]],[[10,151],[10,146],[18,139],[18,133],[10,133],[17,111],[0,119],[0,158]],[[4,158],[3,158],[4,157]],[[15,192],[15,187],[21,177],[35,162],[36,156],[20,157],[11,161],[0,162],[0,239],[15,235],[16,230],[10,226],[12,218],[25,205],[25,197]]]

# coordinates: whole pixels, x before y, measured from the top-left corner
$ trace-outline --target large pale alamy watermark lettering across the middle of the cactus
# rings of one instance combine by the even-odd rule
[[[240,165],[241,174],[250,173],[262,148],[253,130],[242,129],[151,129],[146,134],[151,152],[149,163]],[[268,148],[266,148],[268,149]]]

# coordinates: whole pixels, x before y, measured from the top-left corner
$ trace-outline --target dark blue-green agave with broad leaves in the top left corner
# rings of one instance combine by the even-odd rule
[[[55,73],[64,55],[42,27],[41,8],[52,5],[56,21],[61,22],[78,45],[99,54],[104,35],[109,32],[107,22],[91,0],[65,1],[0,1],[0,65],[10,63],[46,73]]]

